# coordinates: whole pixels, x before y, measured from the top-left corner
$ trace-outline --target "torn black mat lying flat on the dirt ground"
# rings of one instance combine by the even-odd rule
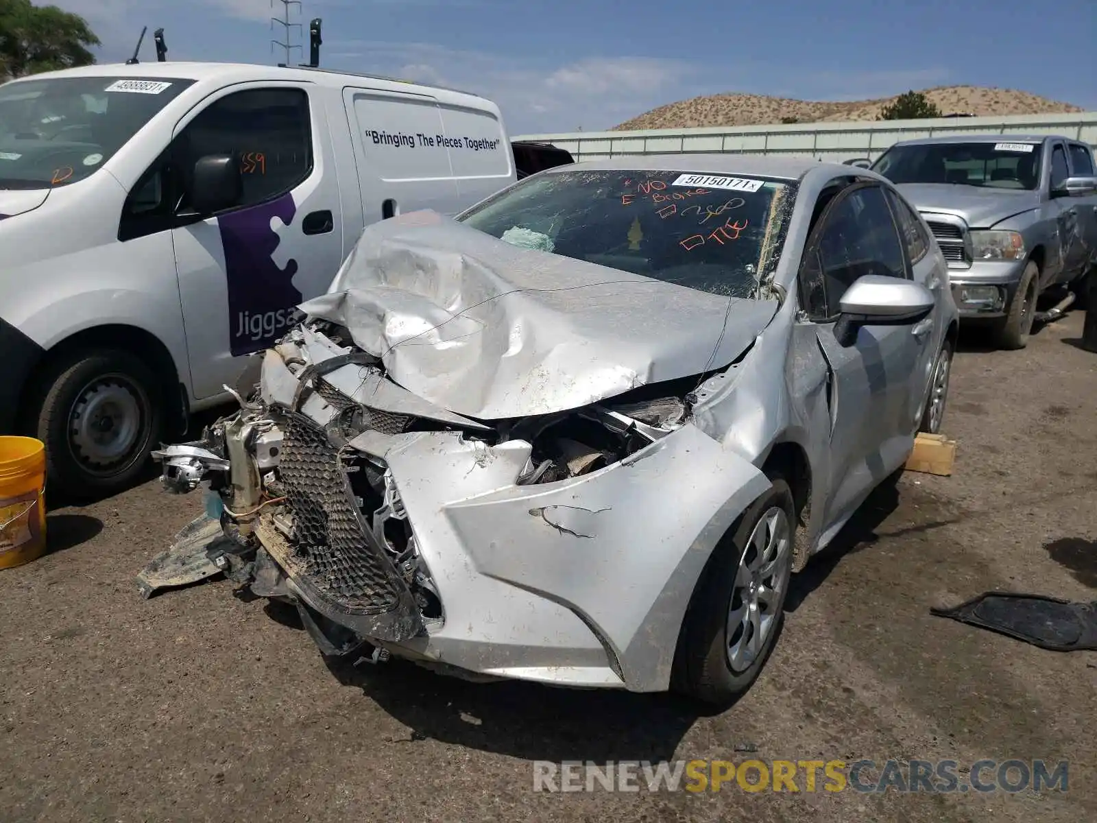
[[[929,611],[1053,652],[1097,650],[1097,601],[986,591],[959,606],[932,607]]]

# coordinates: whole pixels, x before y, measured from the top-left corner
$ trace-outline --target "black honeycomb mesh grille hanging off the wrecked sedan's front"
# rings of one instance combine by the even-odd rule
[[[397,583],[366,542],[364,522],[327,432],[307,417],[291,414],[279,471],[293,510],[294,550],[309,582],[355,611],[395,609]]]

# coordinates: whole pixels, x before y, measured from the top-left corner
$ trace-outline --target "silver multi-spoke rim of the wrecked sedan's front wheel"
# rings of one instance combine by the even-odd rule
[[[727,607],[727,664],[746,672],[777,622],[792,560],[792,529],[780,506],[770,507],[750,532]]]

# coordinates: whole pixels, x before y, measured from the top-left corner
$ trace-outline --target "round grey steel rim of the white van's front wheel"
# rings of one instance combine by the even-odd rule
[[[87,471],[105,474],[133,456],[147,415],[144,394],[123,375],[84,386],[69,414],[72,452]]]

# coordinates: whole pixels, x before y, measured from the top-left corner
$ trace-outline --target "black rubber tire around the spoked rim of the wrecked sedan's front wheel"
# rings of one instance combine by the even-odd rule
[[[675,689],[720,708],[733,703],[754,684],[769,658],[784,617],[795,544],[795,505],[784,478],[773,475],[770,480],[772,487],[750,505],[713,551],[693,593],[678,641]],[[772,616],[772,622],[751,662],[745,668],[735,669],[730,661],[728,649],[735,638],[728,638],[728,617],[733,597],[737,597],[739,563],[751,549],[749,540],[755,528],[773,508],[783,510],[789,532],[787,559],[773,584],[774,607],[767,612]]]

